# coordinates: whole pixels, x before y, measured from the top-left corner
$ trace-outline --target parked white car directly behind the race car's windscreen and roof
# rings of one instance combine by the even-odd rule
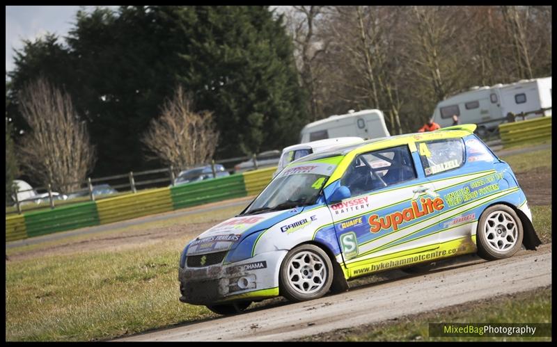
[[[278,161],[278,167],[273,174],[273,177],[278,175],[278,172],[281,172],[283,168],[288,166],[288,164],[292,163],[296,159],[300,159],[303,156],[322,152],[325,150],[330,150],[331,148],[340,146],[340,145],[350,145],[356,143],[362,143],[363,138],[359,138],[357,136],[347,136],[342,138],[326,138],[324,140],[317,140],[308,143],[300,143],[298,145],[292,145],[289,147],[285,147],[281,154],[281,159]]]

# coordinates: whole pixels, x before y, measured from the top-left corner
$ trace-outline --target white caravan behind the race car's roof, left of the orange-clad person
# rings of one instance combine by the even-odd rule
[[[354,112],[345,115],[331,115],[324,120],[307,124],[300,131],[300,143],[325,138],[357,136],[366,140],[389,136],[382,111],[377,109]]]

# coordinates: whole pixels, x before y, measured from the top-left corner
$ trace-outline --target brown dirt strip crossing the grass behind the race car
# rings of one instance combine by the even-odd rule
[[[526,172],[517,172],[517,179],[524,190],[530,205],[551,204],[551,170],[548,168],[535,168]],[[225,219],[225,218],[223,218]],[[185,243],[201,232],[217,225],[220,220],[210,223],[181,223],[172,227],[157,227],[143,230],[123,232],[116,236],[95,236],[80,241],[71,241],[58,245],[45,245],[45,247],[26,250],[10,255],[10,260],[29,259],[45,255],[67,255],[74,252],[87,252],[91,250],[116,251],[133,248],[138,245],[147,245],[159,241],[176,239]]]

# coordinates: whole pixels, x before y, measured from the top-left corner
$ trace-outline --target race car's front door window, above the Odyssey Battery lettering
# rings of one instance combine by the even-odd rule
[[[415,179],[416,170],[407,145],[356,156],[340,184],[352,196]]]

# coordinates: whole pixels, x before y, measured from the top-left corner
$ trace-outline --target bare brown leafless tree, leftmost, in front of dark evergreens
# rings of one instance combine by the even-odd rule
[[[93,168],[95,149],[70,95],[39,78],[22,90],[19,100],[31,128],[19,146],[24,170],[55,190],[79,189]]]

